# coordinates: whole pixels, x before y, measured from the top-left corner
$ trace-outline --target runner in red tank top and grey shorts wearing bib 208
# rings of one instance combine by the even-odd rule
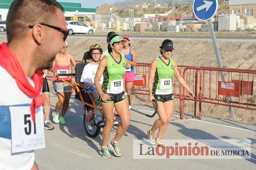
[[[61,73],[68,74],[71,64],[74,68],[76,67],[74,56],[67,52],[67,48],[69,46],[66,41],[65,43],[66,47],[62,48],[59,53],[57,53],[56,59],[53,61],[53,67],[51,68],[51,71],[53,72],[53,87],[58,97],[55,111],[52,112],[52,117],[54,123],[60,124],[66,124],[64,115],[69,108],[69,99],[71,97],[72,88],[67,83],[59,80],[57,77],[58,74]],[[60,78],[71,83],[70,76],[60,76]],[[59,110],[61,107],[61,115],[59,116]]]

